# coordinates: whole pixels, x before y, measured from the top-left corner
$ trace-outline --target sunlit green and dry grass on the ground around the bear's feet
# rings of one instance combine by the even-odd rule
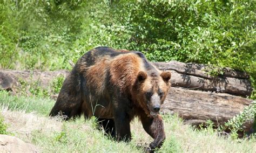
[[[0,92],[0,106],[8,131],[30,142],[42,152],[143,152],[152,138],[135,119],[131,123],[132,141],[116,142],[96,129],[96,119],[58,121],[48,114],[54,101],[36,97],[17,97]],[[166,141],[163,152],[254,152],[256,139],[233,140],[221,137],[211,127],[198,130],[177,115],[164,115]],[[140,147],[138,147],[140,146]]]

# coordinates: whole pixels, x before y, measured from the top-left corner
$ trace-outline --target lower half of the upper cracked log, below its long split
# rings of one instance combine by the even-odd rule
[[[248,79],[215,77],[213,79],[200,78],[194,75],[180,74],[171,71],[172,87],[183,87],[193,90],[228,93],[239,96],[250,96],[252,92],[251,82]]]

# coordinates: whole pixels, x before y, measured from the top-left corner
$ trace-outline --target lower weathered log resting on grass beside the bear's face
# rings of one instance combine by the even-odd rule
[[[198,125],[207,120],[215,125],[223,124],[242,112],[253,100],[224,93],[191,91],[172,87],[161,111],[166,114],[177,113],[185,123]],[[252,123],[246,124],[248,130]]]

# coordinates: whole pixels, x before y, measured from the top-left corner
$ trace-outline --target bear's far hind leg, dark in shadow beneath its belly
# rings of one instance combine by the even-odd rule
[[[105,134],[111,135],[112,138],[116,137],[116,128],[113,119],[98,119],[99,126],[103,127]]]

